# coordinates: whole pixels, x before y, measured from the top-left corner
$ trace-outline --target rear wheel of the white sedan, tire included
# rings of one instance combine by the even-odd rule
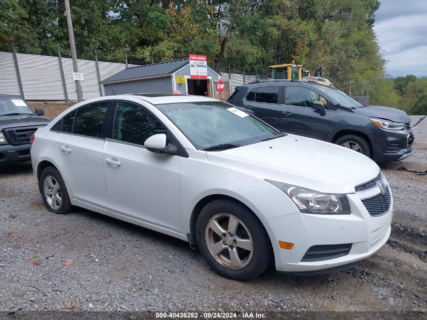
[[[49,211],[54,213],[71,211],[71,202],[64,179],[56,168],[47,167],[41,171],[38,188],[44,205]]]

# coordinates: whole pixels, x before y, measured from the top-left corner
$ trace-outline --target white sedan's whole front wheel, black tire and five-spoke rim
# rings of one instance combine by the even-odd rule
[[[206,205],[196,223],[197,244],[209,265],[234,280],[256,278],[270,265],[271,244],[255,215],[230,200]]]

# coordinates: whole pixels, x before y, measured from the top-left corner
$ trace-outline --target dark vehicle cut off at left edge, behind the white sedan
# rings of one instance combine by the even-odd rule
[[[51,119],[43,109],[31,110],[19,96],[0,95],[0,166],[30,161],[30,137]]]

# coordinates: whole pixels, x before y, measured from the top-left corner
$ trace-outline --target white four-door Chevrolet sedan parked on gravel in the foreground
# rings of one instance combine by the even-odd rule
[[[83,207],[187,241],[235,280],[271,263],[348,268],[390,236],[393,200],[372,160],[211,98],[86,100],[35,132],[31,159],[48,210]]]

